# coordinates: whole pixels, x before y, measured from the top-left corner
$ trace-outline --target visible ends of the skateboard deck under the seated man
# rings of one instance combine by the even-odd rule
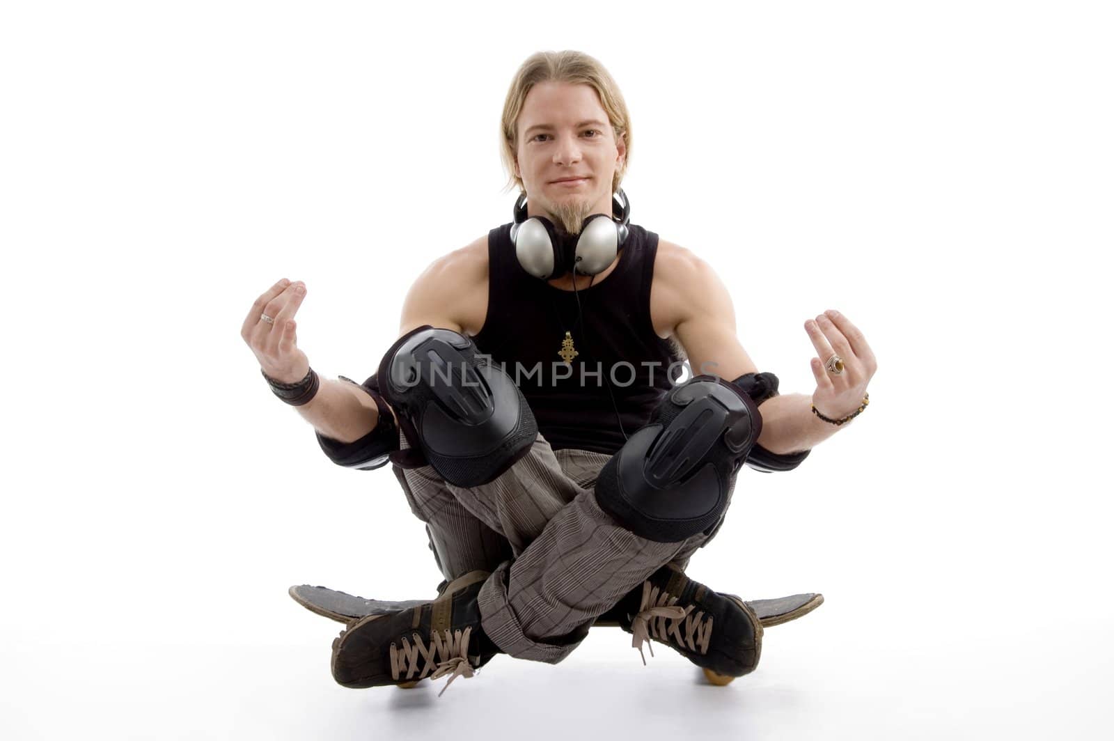
[[[311,586],[309,584],[292,586],[290,588],[290,596],[294,598],[294,602],[310,612],[334,620],[338,623],[350,623],[353,620],[360,620],[368,615],[385,615],[433,601],[433,597],[429,599],[405,599],[402,602],[367,599],[344,592],[338,592],[336,589]],[[759,622],[762,623],[762,627],[771,627],[808,615],[822,605],[823,602],[824,595],[810,592],[807,594],[793,594],[788,597],[776,597],[774,599],[750,599],[746,604],[754,611]],[[597,620],[595,624],[596,626],[618,626],[618,623],[612,621]]]

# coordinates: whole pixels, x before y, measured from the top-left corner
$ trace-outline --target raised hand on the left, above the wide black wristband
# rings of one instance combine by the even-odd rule
[[[294,333],[294,314],[304,298],[305,283],[283,279],[255,300],[240,330],[263,372],[280,383],[297,383],[310,372],[310,361],[297,349]],[[264,314],[274,323],[263,321]]]

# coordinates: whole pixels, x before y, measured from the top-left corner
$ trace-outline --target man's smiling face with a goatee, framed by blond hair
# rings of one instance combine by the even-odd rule
[[[518,116],[517,175],[530,216],[612,213],[612,179],[626,156],[587,85],[540,82]]]

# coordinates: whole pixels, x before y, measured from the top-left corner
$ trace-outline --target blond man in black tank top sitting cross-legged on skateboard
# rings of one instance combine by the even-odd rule
[[[390,456],[448,581],[432,603],[353,621],[333,675],[373,686],[451,682],[497,653],[556,663],[605,613],[639,650],[652,637],[710,677],[745,674],[761,624],[683,569],[722,524],[744,460],[794,468],[862,411],[870,348],[838,312],[810,320],[817,390],[778,396],[712,270],[625,222],[629,117],[595,59],[528,59],[502,129],[522,192],[515,224],[417,279],[375,376],[356,386],[310,369],[300,282],[280,281],[243,325],[330,458],[373,468]],[[682,351],[694,377],[675,383]]]

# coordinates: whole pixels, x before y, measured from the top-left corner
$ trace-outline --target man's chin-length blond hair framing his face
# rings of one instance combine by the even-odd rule
[[[612,193],[618,189],[627,164],[631,162],[631,114],[626,101],[619,92],[618,85],[595,58],[583,51],[539,51],[522,62],[507,91],[507,100],[502,104],[502,164],[510,175],[507,191],[516,185],[525,191],[522,179],[515,174],[515,150],[518,145],[518,116],[522,113],[526,96],[538,82],[568,82],[570,85],[588,85],[599,96],[599,103],[607,111],[607,119],[615,130],[615,142],[626,145],[626,155],[622,166],[615,169],[612,178]]]

